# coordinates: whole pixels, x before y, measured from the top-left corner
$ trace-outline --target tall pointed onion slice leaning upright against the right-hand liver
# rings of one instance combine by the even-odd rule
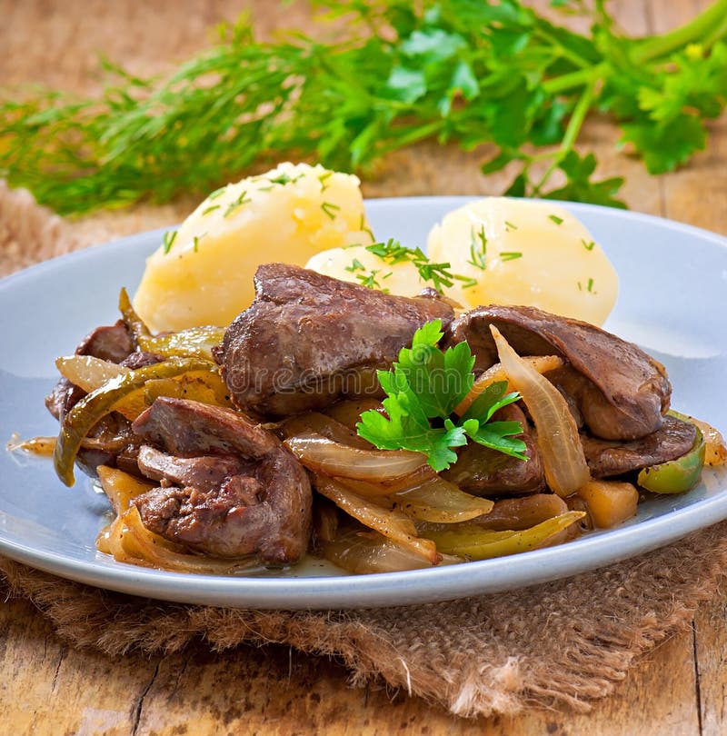
[[[533,417],[545,480],[559,496],[570,496],[591,480],[573,414],[553,383],[515,353],[493,324],[490,331],[508,381],[522,394]]]

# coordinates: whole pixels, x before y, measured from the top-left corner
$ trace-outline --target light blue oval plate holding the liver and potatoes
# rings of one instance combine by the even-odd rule
[[[373,230],[422,245],[463,197],[367,203]],[[621,277],[605,325],[666,365],[672,406],[727,430],[727,239],[643,214],[564,204],[603,245]],[[66,255],[0,282],[0,439],[55,434],[45,394],[55,357],[97,324],[114,322],[119,288],[134,291],[161,232]],[[264,249],[261,247],[261,262]],[[707,471],[692,492],[643,503],[636,519],[560,547],[414,572],[349,576],[309,562],[286,576],[187,575],[114,562],[95,550],[105,497],[78,473],[75,488],[51,463],[0,452],[0,552],[47,572],[115,591],[213,605],[326,609],[433,602],[497,592],[592,570],[727,518],[727,476]]]

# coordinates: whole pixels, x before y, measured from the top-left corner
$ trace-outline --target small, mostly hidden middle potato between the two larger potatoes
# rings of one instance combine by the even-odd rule
[[[378,255],[366,250],[365,245],[332,248],[315,254],[305,265],[312,271],[334,279],[363,283],[374,289],[399,296],[415,296],[427,285],[411,261],[386,263]]]

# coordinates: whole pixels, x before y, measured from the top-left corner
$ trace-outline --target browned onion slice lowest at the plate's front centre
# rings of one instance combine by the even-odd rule
[[[326,560],[346,572],[365,574],[371,572],[398,572],[432,567],[420,554],[387,539],[377,532],[351,530],[324,542],[321,550]],[[443,556],[440,564],[463,562],[459,557]]]

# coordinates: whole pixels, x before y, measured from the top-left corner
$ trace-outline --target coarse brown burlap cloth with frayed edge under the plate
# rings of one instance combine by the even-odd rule
[[[101,235],[179,219],[184,204],[69,224],[0,186],[0,272]],[[141,218],[141,220],[137,220]],[[100,223],[100,224],[99,224]],[[124,227],[120,227],[123,224]],[[40,401],[39,397],[39,401]],[[727,522],[658,552],[524,590],[357,612],[255,612],[150,601],[68,582],[0,558],[7,594],[25,596],[77,646],[109,654],[215,651],[284,642],[344,661],[455,714],[573,708],[612,691],[644,651],[686,627],[727,563]]]

